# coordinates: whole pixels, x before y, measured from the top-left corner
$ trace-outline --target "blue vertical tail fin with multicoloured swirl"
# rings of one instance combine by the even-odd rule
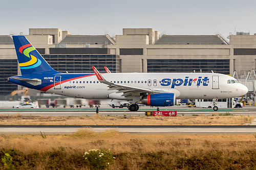
[[[23,35],[12,36],[22,75],[58,73]]]

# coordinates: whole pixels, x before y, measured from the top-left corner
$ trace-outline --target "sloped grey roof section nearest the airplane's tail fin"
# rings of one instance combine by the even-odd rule
[[[109,35],[67,35],[60,44],[116,44]]]

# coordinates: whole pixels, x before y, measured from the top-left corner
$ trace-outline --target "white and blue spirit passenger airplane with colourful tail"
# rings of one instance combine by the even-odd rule
[[[22,75],[8,81],[31,89],[82,99],[132,101],[165,107],[177,99],[224,99],[245,95],[248,88],[231,76],[211,73],[61,73],[54,70],[25,36],[12,36]],[[218,110],[214,104],[213,109]]]

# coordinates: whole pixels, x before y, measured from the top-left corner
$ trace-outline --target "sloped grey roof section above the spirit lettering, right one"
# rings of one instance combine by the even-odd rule
[[[162,35],[155,44],[228,44],[220,35]]]

